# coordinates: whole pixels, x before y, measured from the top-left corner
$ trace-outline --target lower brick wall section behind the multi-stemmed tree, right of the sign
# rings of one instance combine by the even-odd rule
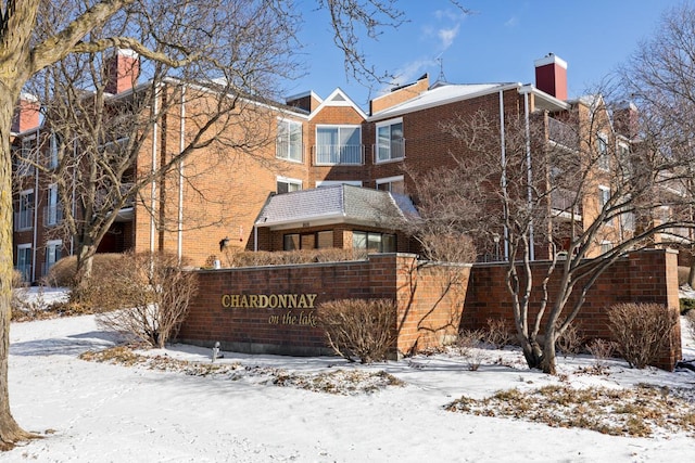
[[[547,262],[533,262],[533,284],[538,287],[547,269]],[[557,292],[558,280],[549,282],[551,299]],[[540,291],[534,291],[531,309],[539,307]],[[577,294],[568,307],[577,300]],[[586,295],[576,319],[578,327],[587,338],[610,338],[607,309],[620,303],[657,303],[679,310],[677,253],[667,249],[649,249],[634,253],[606,270]],[[533,316],[535,312],[533,312]],[[504,265],[476,265],[471,271],[468,294],[464,306],[462,327],[477,330],[486,325],[488,319],[504,319],[514,329],[511,298],[505,287]],[[672,370],[681,359],[680,325],[666,340],[657,366]]]

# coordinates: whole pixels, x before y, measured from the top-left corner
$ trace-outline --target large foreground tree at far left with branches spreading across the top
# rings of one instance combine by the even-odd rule
[[[356,47],[351,37],[358,37],[359,24],[368,31],[397,25],[394,18],[399,18],[400,13],[394,3],[393,0],[319,0],[318,7],[330,11],[337,40],[349,53]],[[247,11],[245,7],[260,8]],[[78,3],[5,0],[0,3],[0,447],[11,447],[31,437],[10,412],[7,374],[13,260],[10,140],[14,104],[26,82],[70,55],[98,55],[110,49],[127,49],[150,63],[143,65],[143,69],[151,69],[152,76],[163,77],[160,66],[164,66],[178,69],[173,72],[173,77],[191,73],[211,79],[225,77],[225,86],[253,89],[254,83],[278,72],[271,69],[278,63],[273,59],[277,50],[264,50],[262,40],[237,42],[236,35],[243,36],[244,24],[252,27],[255,20],[252,15],[257,15],[261,20],[275,18],[270,24],[277,27],[264,30],[266,42],[273,43],[270,36],[276,34],[291,37],[300,20],[296,11],[294,4],[281,0],[90,0]],[[355,14],[361,11],[369,14]],[[268,23],[261,21],[261,24]],[[231,48],[218,48],[219,40]],[[239,48],[235,48],[237,44]],[[235,57],[225,59],[225,53]],[[282,53],[278,56],[288,59]],[[267,60],[270,61],[264,63]],[[351,63],[355,73],[365,69],[364,61]],[[267,73],[261,72],[266,64]],[[86,65],[90,65],[89,60]],[[220,69],[222,74],[213,72]],[[90,236],[89,240],[93,242],[94,237],[98,239]]]

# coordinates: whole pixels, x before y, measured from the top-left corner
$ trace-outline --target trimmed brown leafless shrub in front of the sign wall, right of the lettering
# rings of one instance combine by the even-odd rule
[[[387,360],[396,340],[396,307],[390,299],[339,299],[318,307],[318,322],[333,351],[362,363]]]

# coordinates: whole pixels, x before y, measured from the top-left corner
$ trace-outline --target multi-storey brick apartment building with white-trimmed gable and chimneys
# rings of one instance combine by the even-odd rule
[[[116,57],[137,60],[127,53]],[[99,250],[167,250],[198,266],[210,265],[223,247],[281,250],[356,246],[414,252],[407,236],[376,220],[374,213],[351,209],[354,214],[349,214],[345,208],[369,197],[379,204],[395,204],[399,214],[412,214],[413,204],[404,194],[414,191],[413,178],[405,172],[451,163],[447,151],[455,141],[439,124],[456,115],[470,115],[484,108],[500,114],[501,120],[504,117],[541,118],[547,128],[544,136],[547,142],[556,141],[558,134],[566,132],[568,114],[577,116],[571,120],[581,127],[582,118],[590,117],[591,103],[581,99],[568,101],[567,64],[549,54],[535,62],[535,85],[430,85],[426,75],[372,100],[369,114],[340,89],[324,100],[314,92],[289,98],[283,104],[249,100],[247,110],[256,112],[257,120],[267,125],[269,142],[257,143],[252,155],[242,151],[231,153],[226,157],[228,162],[219,164],[211,164],[212,158],[218,158],[211,150],[219,146],[198,150],[178,170],[153,181],[138,201],[123,208]],[[115,74],[114,100],[119,94],[137,92],[139,85],[132,75]],[[188,114],[186,106],[192,103],[181,97],[184,92],[177,91],[180,85],[167,85],[172,87],[170,98],[180,100],[168,106],[168,124],[160,125],[147,143],[138,159],[140,172],[151,168],[152,162],[170,156],[187,137],[182,127],[192,127],[195,123],[182,116]],[[50,121],[39,120],[38,105],[38,101],[23,98],[13,127],[13,146],[50,160],[59,141],[51,137]],[[627,108],[626,115],[630,111]],[[615,120],[627,119],[616,117]],[[628,128],[629,124],[609,124],[606,114],[597,140],[630,150]],[[46,275],[61,256],[74,253],[74,243],[68,236],[51,234],[51,228],[61,221],[61,210],[71,205],[61,202],[36,169],[18,163],[16,169],[15,266],[27,281],[35,282]],[[184,181],[184,169],[195,171],[195,176]],[[601,175],[597,173],[599,187]],[[312,192],[340,184],[349,187]],[[370,192],[359,193],[357,187]],[[601,188],[595,201],[583,205],[582,214],[569,220],[591,220],[592,208],[599,207]],[[286,209],[274,204],[274,198],[283,194],[290,198],[281,202]],[[334,197],[345,203],[331,203],[333,209],[326,206],[326,210],[320,210],[323,194],[326,201]],[[166,203],[162,197],[167,198]],[[202,218],[207,222],[203,223]],[[193,222],[197,226],[192,226]],[[561,241],[561,236],[558,240]],[[489,247],[483,245],[481,249]],[[540,246],[538,257],[543,257],[543,253]]]

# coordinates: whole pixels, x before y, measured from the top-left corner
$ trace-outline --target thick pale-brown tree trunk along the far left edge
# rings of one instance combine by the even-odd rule
[[[14,110],[13,92],[0,92],[0,449],[9,449],[33,437],[23,430],[10,412],[8,357],[12,300],[12,157],[10,127]]]

